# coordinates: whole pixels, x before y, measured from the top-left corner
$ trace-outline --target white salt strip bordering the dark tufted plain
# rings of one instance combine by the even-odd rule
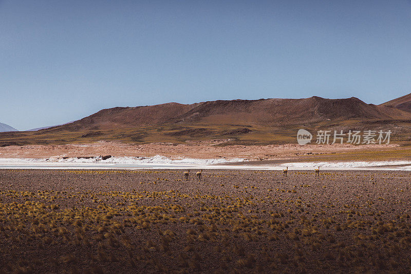
[[[236,159],[228,162],[223,159],[181,159],[171,160],[165,157],[111,157],[101,158],[66,158],[66,159],[33,159],[33,158],[0,158],[0,169],[225,169],[225,170],[310,170],[320,167],[321,170],[391,170],[411,171],[411,161],[351,161],[351,162],[276,162],[276,161],[243,161]]]

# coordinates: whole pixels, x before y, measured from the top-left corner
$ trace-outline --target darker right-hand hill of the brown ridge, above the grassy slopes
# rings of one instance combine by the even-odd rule
[[[386,106],[364,103],[358,98],[260,99],[209,101],[177,117],[178,122],[255,123],[288,125],[327,119],[408,119],[411,116]]]

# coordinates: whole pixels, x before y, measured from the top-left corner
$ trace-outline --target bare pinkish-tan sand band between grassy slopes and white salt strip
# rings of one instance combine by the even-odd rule
[[[10,145],[0,147],[0,158],[62,158],[99,155],[180,158],[244,158],[246,160],[362,161],[408,160],[411,147],[399,144],[283,144],[225,145],[227,140],[128,144],[100,141],[84,144]]]

